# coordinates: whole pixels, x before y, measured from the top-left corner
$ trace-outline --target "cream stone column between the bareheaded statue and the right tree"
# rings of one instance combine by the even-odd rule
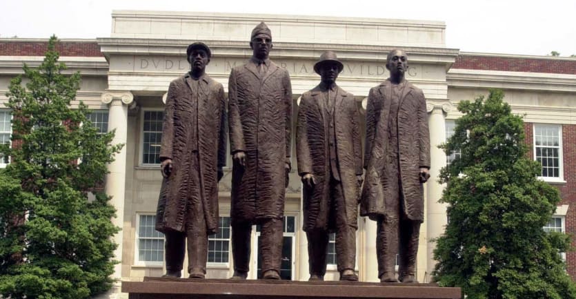
[[[440,169],[446,166],[446,154],[438,146],[446,142],[446,120],[444,113],[452,109],[452,104],[448,100],[428,101],[426,109],[430,113],[428,126],[430,129],[430,180],[426,183],[426,274],[424,271],[418,273],[420,281],[430,282],[430,273],[434,270],[436,261],[434,260],[435,242],[431,240],[438,238],[446,227],[446,204],[438,202],[444,189],[443,184],[439,184],[438,179]],[[422,252],[422,251],[420,251]],[[422,252],[422,253],[424,253]],[[425,276],[424,276],[425,275]],[[422,280],[423,279],[423,280]]]

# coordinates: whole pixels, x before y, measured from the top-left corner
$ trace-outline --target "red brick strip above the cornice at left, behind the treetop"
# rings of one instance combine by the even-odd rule
[[[1,41],[0,56],[43,56],[48,41]],[[60,41],[56,44],[60,56],[102,57],[96,41]]]

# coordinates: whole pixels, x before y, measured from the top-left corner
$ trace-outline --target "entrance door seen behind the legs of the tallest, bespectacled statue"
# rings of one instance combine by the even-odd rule
[[[292,280],[294,278],[295,255],[295,221],[296,216],[284,216],[284,238],[282,238],[282,263],[280,265],[280,278]],[[257,247],[260,246],[260,226],[256,226]],[[262,278],[262,259],[259,251],[255,250],[257,260],[257,278]]]

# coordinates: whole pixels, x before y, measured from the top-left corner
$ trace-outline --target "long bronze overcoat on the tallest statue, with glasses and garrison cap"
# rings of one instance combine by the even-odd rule
[[[252,61],[232,68],[228,113],[230,152],[246,153],[244,171],[232,168],[232,223],[281,218],[292,126],[288,71],[272,61],[261,75]]]

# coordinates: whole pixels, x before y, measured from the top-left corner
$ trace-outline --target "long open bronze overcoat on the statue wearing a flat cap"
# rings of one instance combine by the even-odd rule
[[[172,159],[172,173],[162,181],[156,229],[184,231],[186,201],[195,192],[201,198],[206,229],[212,234],[217,232],[219,218],[217,171],[226,165],[226,98],[222,84],[208,75],[199,79],[197,98],[192,95],[192,84],[197,83],[187,74],[172,81],[168,88],[160,159]],[[194,164],[190,159],[196,157],[192,148],[197,148],[199,157]],[[189,190],[192,175],[199,177],[199,190]]]

